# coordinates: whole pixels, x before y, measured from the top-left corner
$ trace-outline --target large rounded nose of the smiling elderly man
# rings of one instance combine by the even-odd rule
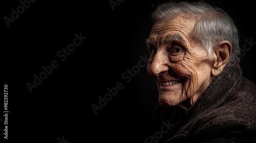
[[[163,71],[168,71],[168,55],[164,51],[157,51],[150,66],[150,73],[156,76]]]

